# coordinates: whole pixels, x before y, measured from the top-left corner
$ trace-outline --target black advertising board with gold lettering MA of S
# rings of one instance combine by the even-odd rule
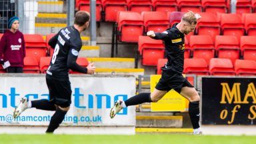
[[[255,125],[256,78],[202,77],[203,125]]]

